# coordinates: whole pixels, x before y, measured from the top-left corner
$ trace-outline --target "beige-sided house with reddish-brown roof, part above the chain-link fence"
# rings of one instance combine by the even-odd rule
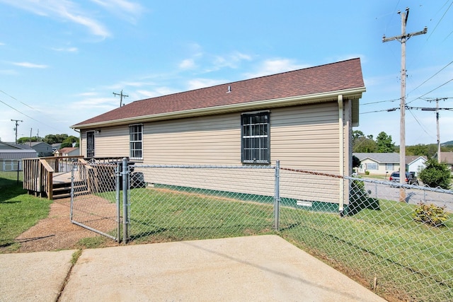
[[[137,100],[71,128],[80,130],[87,158],[171,165],[280,160],[289,168],[350,175],[352,126],[364,92],[360,59],[350,59]],[[338,202],[339,187],[325,190],[325,199]]]

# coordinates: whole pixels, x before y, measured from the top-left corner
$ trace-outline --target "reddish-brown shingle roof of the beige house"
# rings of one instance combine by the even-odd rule
[[[229,86],[231,92],[227,93]],[[79,128],[84,124],[364,87],[360,59],[349,59],[272,76],[137,100],[72,127]]]

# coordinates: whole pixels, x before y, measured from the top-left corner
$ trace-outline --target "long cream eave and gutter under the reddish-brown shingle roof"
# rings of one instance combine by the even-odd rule
[[[329,91],[326,93],[316,93],[311,95],[298,95],[289,98],[277,98],[273,100],[258,100],[248,103],[240,103],[233,105],[215,106],[209,108],[197,108],[190,110],[181,110],[175,112],[164,112],[155,115],[142,115],[138,117],[128,117],[119,120],[109,120],[103,122],[93,122],[89,124],[74,124],[72,129],[90,129],[93,127],[110,127],[119,126],[122,124],[133,124],[138,122],[155,122],[159,120],[173,120],[185,117],[195,117],[202,115],[214,115],[226,112],[235,112],[241,110],[256,110],[261,108],[277,108],[287,107],[292,105],[306,105],[311,103],[324,103],[338,100],[338,95],[343,95],[343,98],[360,99],[362,93],[366,91],[365,86],[360,88],[350,88],[340,91]]]

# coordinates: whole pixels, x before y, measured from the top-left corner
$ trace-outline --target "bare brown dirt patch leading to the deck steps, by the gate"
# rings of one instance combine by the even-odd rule
[[[18,252],[69,250],[79,248],[77,243],[82,238],[101,236],[71,223],[70,205],[69,198],[55,200],[50,205],[50,213],[46,219],[40,220],[16,238],[16,242],[21,243]],[[113,240],[110,241],[109,245],[115,245]]]

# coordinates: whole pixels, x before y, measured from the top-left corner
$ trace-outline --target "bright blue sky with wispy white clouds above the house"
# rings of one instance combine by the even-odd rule
[[[401,35],[406,145],[436,143],[435,112],[453,108],[453,0],[0,0],[0,138],[67,133],[125,103],[360,57],[360,127],[399,144]],[[453,112],[440,110],[441,141]]]

